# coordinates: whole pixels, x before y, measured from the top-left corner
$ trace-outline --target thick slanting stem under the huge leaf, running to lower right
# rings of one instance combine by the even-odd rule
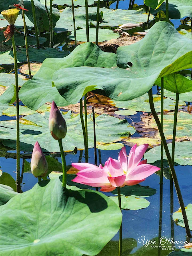
[[[149,95],[149,104],[150,104],[151,112],[152,112],[152,114],[154,116],[154,119],[156,121],[156,124],[158,126],[159,133],[160,133],[160,136],[161,136],[161,140],[162,140],[164,150],[165,150],[165,153],[166,153],[166,156],[167,156],[168,164],[170,166],[171,174],[172,174],[172,177],[173,177],[173,181],[174,181],[174,185],[175,185],[175,188],[176,188],[180,208],[181,208],[183,219],[184,219],[186,234],[187,234],[188,237],[191,237],[189,224],[188,224],[188,220],[187,220],[187,215],[186,215],[186,211],[185,211],[185,205],[184,205],[184,202],[183,202],[181,190],[180,190],[178,179],[177,179],[176,172],[175,172],[175,169],[174,169],[174,164],[171,160],[170,152],[169,152],[169,149],[168,149],[168,146],[167,146],[167,143],[166,143],[166,139],[165,139],[162,127],[161,127],[160,120],[159,120],[158,115],[157,115],[157,113],[155,111],[155,108],[154,108],[152,89],[149,90],[148,95]]]

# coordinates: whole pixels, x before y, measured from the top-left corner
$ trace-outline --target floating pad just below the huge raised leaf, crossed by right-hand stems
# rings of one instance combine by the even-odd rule
[[[161,111],[161,96],[160,95],[153,95],[154,106],[156,112]],[[144,94],[141,97],[135,98],[133,100],[126,100],[126,101],[112,101],[109,100],[110,104],[115,104],[118,108],[127,108],[129,110],[135,111],[143,111],[143,112],[151,112],[150,105],[149,105],[149,96],[148,93]],[[175,109],[175,101],[169,98],[164,98],[164,111],[170,111]],[[183,108],[186,103],[184,101],[179,101],[179,108]]]

